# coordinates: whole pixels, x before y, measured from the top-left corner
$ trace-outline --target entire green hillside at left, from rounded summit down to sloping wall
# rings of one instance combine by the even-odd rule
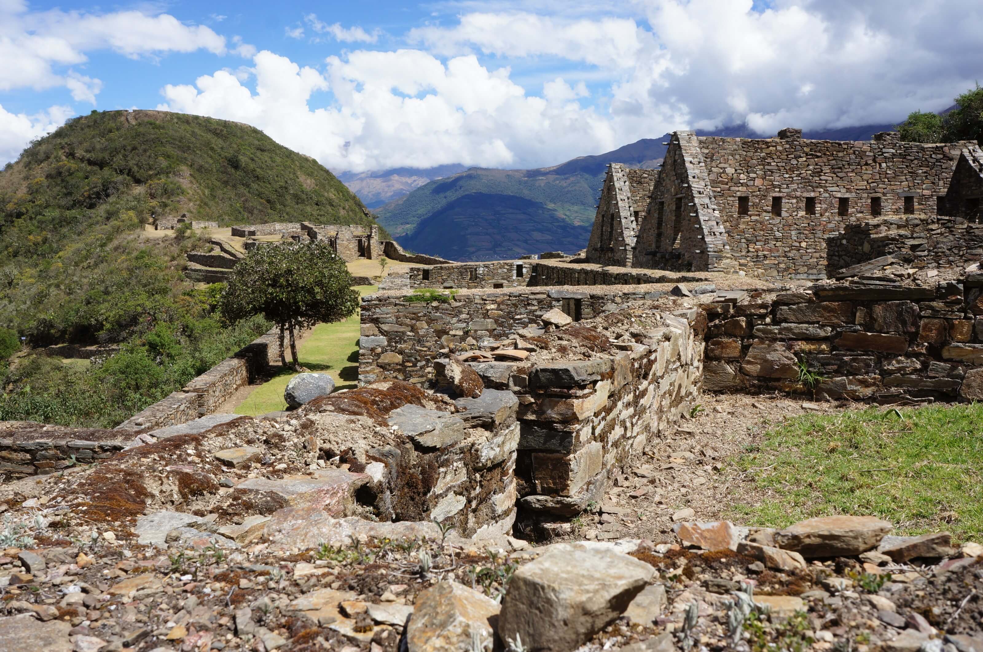
[[[114,426],[270,327],[221,323],[219,287],[182,274],[206,230],[146,230],[184,213],[221,226],[375,224],[314,159],[247,125],[160,111],[69,121],[0,172],[0,420]],[[22,337],[120,352],[8,361]]]

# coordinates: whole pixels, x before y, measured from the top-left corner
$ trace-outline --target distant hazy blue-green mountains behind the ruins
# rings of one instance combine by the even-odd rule
[[[806,132],[805,137],[869,140],[893,125]],[[763,137],[747,126],[700,136]],[[533,170],[464,169],[460,165],[338,178],[373,209],[378,222],[409,249],[451,260],[502,260],[587,245],[608,163],[654,168],[669,135],[643,138],[603,154]]]

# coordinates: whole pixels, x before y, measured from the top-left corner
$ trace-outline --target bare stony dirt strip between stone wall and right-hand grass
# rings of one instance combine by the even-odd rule
[[[600,515],[580,518],[587,538],[648,538],[671,541],[672,515],[684,508],[695,513],[687,520],[730,516],[739,503],[754,504],[760,492],[750,479],[727,467],[750,444],[761,440],[772,425],[807,411],[836,413],[836,404],[803,404],[784,397],[704,395],[703,411],[684,417],[676,432],[650,442],[644,458],[615,479],[601,505]],[[815,407],[807,409],[806,406]]]

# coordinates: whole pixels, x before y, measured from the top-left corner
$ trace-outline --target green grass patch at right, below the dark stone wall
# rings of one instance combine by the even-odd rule
[[[732,462],[764,498],[736,505],[740,522],[874,515],[900,534],[983,535],[983,405],[804,415],[750,448]]]

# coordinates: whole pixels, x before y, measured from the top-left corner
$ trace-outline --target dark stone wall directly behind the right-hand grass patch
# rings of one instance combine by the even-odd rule
[[[882,404],[983,400],[983,275],[931,287],[815,286],[706,305],[703,387]]]

